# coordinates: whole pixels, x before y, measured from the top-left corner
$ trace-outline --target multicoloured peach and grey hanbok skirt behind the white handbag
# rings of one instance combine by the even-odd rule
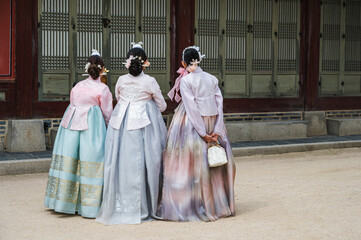
[[[216,116],[203,117],[207,134]],[[228,163],[210,168],[207,144],[180,103],[168,131],[164,153],[163,195],[157,215],[172,221],[214,221],[235,214],[235,164],[226,130],[218,138]]]

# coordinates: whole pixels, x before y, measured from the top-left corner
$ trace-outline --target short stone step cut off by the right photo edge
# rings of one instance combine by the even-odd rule
[[[327,119],[327,133],[336,136],[361,134],[361,118]]]

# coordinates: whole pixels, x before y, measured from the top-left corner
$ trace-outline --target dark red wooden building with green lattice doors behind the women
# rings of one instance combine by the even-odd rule
[[[144,42],[164,94],[196,44],[225,112],[361,109],[361,0],[1,3],[0,119],[61,117],[92,48],[113,91],[132,41]]]

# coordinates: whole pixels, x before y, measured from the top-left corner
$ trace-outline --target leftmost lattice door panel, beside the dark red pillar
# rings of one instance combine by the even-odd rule
[[[64,100],[70,89],[68,0],[39,0],[39,98]]]

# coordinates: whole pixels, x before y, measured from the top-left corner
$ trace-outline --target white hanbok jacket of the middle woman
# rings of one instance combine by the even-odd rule
[[[157,81],[144,72],[136,77],[131,74],[120,76],[115,86],[115,97],[118,103],[109,120],[109,125],[115,129],[120,128],[128,107],[127,130],[140,129],[150,124],[145,109],[149,100],[153,99],[161,112],[167,108]]]

